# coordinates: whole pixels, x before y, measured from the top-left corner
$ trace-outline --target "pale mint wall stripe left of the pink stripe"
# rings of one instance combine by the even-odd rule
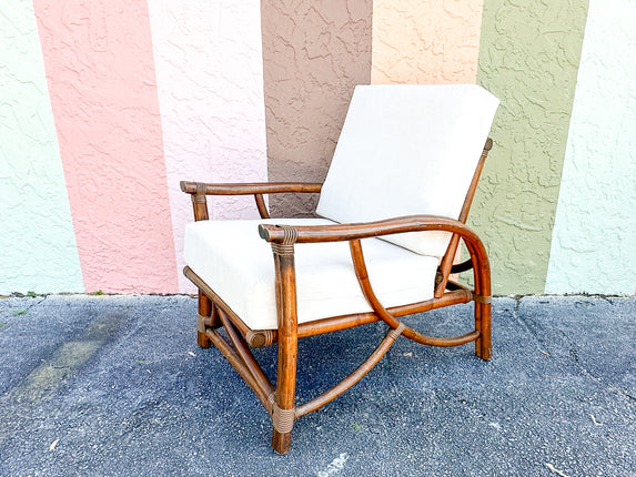
[[[0,12],[0,294],[84,290],[30,1]]]

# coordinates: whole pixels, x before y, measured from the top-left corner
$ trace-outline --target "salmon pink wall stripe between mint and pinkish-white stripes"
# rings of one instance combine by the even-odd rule
[[[176,292],[147,3],[33,4],[84,287]]]

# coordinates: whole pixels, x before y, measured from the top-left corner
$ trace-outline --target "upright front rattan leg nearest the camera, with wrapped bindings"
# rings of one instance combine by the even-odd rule
[[[276,308],[279,315],[279,368],[276,392],[270,397],[272,447],[279,454],[290,449],[295,419],[297,315],[293,242],[272,244],[276,271]]]

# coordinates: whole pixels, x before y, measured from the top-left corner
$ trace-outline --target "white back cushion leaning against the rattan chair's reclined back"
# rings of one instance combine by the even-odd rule
[[[356,87],[317,214],[341,223],[457,219],[498,103],[476,84]],[[384,238],[440,257],[450,234]]]

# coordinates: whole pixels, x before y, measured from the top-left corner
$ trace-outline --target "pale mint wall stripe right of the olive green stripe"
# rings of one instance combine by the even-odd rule
[[[635,24],[636,2],[590,0],[547,293],[636,288]]]

